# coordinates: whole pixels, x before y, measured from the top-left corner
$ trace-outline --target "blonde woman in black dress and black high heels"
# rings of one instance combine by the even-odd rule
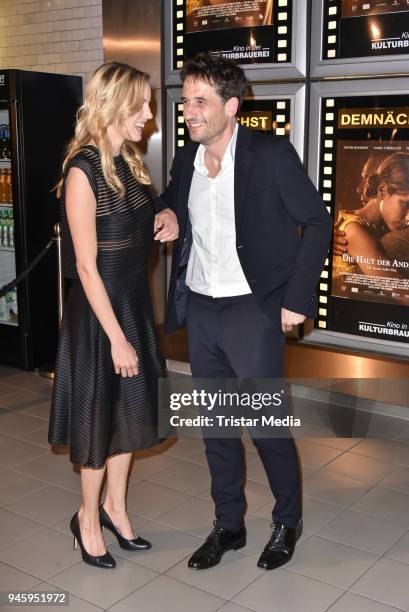
[[[101,525],[127,550],[136,537],[126,511],[132,451],[154,446],[157,380],[164,376],[146,274],[154,229],[177,237],[171,211],[154,220],[150,178],[136,143],[150,111],[147,76],[109,62],[90,79],[57,187],[64,273],[72,279],[61,325],[49,427],[81,467],[83,502],[70,523],[74,545],[113,568]],[[99,497],[105,470],[107,493]]]

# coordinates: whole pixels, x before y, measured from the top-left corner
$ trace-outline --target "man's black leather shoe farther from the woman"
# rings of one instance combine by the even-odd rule
[[[288,563],[294,553],[295,543],[302,534],[302,520],[293,529],[282,523],[271,523],[273,533],[267,542],[257,566],[263,569],[275,569]]]

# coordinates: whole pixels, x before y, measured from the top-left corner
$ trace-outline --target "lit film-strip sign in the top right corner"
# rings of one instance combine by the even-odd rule
[[[408,53],[408,0],[325,0],[324,59]]]

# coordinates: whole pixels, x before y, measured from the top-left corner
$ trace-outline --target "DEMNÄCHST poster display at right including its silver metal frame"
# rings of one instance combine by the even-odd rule
[[[347,250],[331,247],[308,341],[409,356],[408,88],[312,84],[309,172]]]

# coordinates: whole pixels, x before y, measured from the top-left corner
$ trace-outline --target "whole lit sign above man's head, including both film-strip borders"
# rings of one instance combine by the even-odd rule
[[[200,52],[239,64],[291,59],[293,0],[173,0],[174,69]]]

